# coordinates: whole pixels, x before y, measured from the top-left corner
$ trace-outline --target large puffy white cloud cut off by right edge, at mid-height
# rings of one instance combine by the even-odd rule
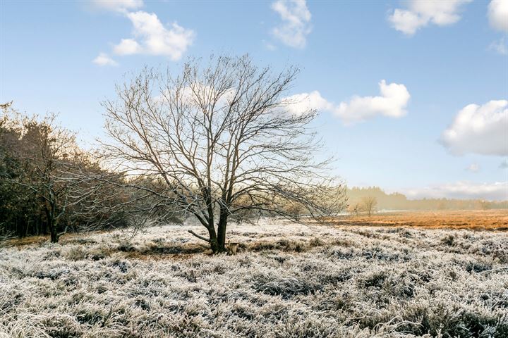
[[[442,133],[440,142],[454,154],[508,155],[508,101],[468,104]]]

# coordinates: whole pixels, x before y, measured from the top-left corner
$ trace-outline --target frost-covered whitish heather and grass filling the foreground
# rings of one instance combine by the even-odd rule
[[[188,228],[0,249],[0,337],[508,337],[507,232]]]

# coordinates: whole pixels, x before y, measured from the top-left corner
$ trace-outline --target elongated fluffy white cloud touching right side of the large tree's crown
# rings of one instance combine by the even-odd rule
[[[404,84],[390,83],[385,80],[379,83],[379,96],[353,96],[349,102],[336,105],[323,98],[320,92],[296,94],[284,101],[290,113],[298,114],[315,109],[329,111],[337,115],[346,124],[361,122],[376,116],[401,118],[406,115],[406,106],[410,95]]]

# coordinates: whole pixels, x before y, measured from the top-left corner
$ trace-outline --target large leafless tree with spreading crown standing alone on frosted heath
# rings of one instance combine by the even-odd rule
[[[344,207],[329,160],[313,161],[319,142],[308,124],[316,111],[293,114],[284,99],[297,68],[274,73],[248,56],[191,60],[182,73],[143,70],[104,102],[104,144],[124,173],[164,184],[159,206],[190,213],[207,229],[212,251],[224,251],[229,218],[281,215],[287,205],[312,216]]]

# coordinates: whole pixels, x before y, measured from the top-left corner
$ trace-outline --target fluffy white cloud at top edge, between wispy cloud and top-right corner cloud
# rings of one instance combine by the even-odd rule
[[[456,23],[461,18],[461,6],[468,2],[471,0],[411,0],[407,9],[396,8],[388,20],[396,30],[413,35],[430,23],[438,26]]]

